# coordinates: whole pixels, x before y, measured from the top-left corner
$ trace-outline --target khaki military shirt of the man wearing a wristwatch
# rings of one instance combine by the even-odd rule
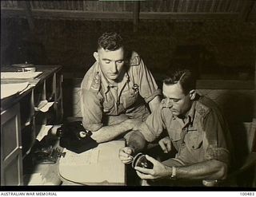
[[[185,121],[174,116],[166,100],[142,124],[147,141],[155,140],[167,130],[176,158],[182,164],[196,164],[205,160],[230,163],[230,133],[217,105],[206,97],[194,100]]]

